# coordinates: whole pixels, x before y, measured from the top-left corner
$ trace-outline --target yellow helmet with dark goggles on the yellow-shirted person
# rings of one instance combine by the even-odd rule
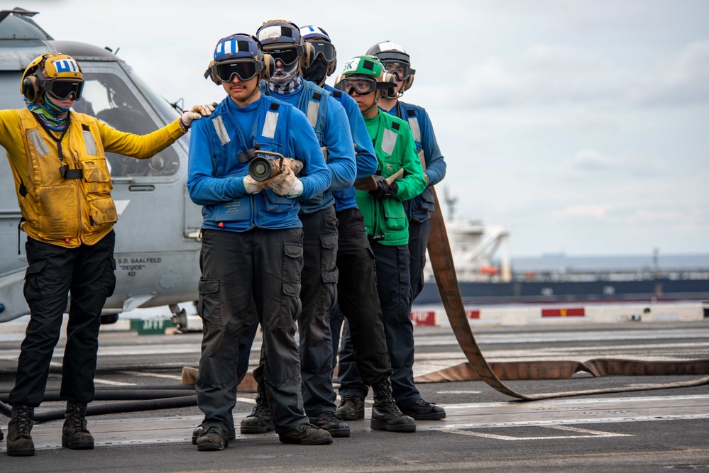
[[[20,91],[30,101],[40,102],[44,92],[55,99],[81,99],[84,76],[79,63],[65,54],[48,52],[36,57],[25,69],[20,82]]]

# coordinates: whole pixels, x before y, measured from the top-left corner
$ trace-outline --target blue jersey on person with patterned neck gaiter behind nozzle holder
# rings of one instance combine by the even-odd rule
[[[348,121],[344,109],[328,91],[305,79],[302,79],[301,87],[290,94],[274,94],[268,89],[268,84],[262,81],[261,93],[296,106],[308,118],[312,118],[310,123],[320,145],[327,148],[326,164],[331,174],[330,187],[323,193],[322,199],[301,197],[300,211],[311,213],[332,205],[334,198],[329,191],[351,187],[357,172],[352,135],[350,128],[346,126]],[[322,100],[326,100],[326,104],[321,104]],[[317,106],[309,109],[313,101]]]

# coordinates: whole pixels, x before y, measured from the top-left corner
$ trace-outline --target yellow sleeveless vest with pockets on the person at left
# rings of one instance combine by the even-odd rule
[[[27,158],[26,179],[21,179],[16,169],[13,172],[25,219],[23,230],[31,238],[63,247],[97,243],[111,231],[118,215],[96,118],[70,112],[60,161],[50,132],[27,108],[18,113]]]

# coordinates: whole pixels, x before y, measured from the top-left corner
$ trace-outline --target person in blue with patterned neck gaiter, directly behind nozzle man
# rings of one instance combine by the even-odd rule
[[[347,437],[349,425],[335,417],[332,399],[332,340],[328,313],[335,302],[338,272],[337,218],[332,191],[351,187],[356,176],[355,153],[347,116],[329,92],[304,81],[300,72],[310,61],[309,45],[304,43],[295,24],[284,20],[267,21],[256,37],[266,54],[273,57],[275,71],[262,81],[261,94],[299,108],[306,114],[321,148],[332,182],[323,193],[301,196],[299,217],[303,223],[302,289],[303,310],[298,318],[300,335],[300,372],[305,413],[310,421],[329,430],[334,437]],[[252,325],[243,338],[240,351],[247,355],[255,335]],[[242,357],[245,360],[246,356]],[[263,357],[260,362],[263,365]],[[243,362],[240,371],[245,371]],[[260,385],[261,367],[254,370]],[[257,393],[251,416],[241,421],[241,433],[262,433],[270,428],[270,414],[265,396]]]

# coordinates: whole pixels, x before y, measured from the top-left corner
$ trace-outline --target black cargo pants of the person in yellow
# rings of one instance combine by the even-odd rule
[[[101,309],[116,287],[115,243],[113,230],[95,245],[76,248],[27,239],[24,294],[31,314],[9,404],[37,407],[44,398],[69,291],[60,397],[80,403],[94,400]]]

